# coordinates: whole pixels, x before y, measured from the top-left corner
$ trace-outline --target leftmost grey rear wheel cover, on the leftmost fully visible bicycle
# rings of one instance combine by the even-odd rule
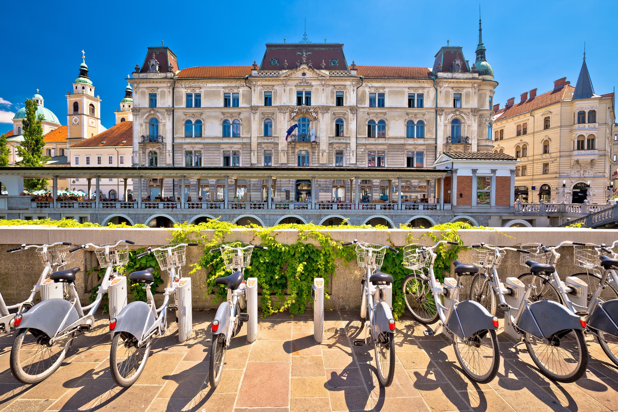
[[[69,316],[67,316],[69,313]],[[66,319],[64,317],[66,316]],[[62,320],[64,319],[64,322]],[[68,300],[48,299],[37,303],[23,314],[19,329],[38,329],[49,337],[79,319],[77,310]]]

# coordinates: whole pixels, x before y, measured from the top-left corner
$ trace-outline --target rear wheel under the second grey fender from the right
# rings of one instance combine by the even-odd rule
[[[588,347],[581,330],[560,330],[549,337],[548,343],[526,332],[525,341],[532,360],[549,379],[568,384],[586,371]]]

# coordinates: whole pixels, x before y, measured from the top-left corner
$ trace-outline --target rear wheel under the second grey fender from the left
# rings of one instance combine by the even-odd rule
[[[114,383],[121,387],[133,385],[140,377],[150,355],[152,339],[146,345],[137,346],[137,338],[129,332],[118,332],[112,338],[109,351],[109,370]]]

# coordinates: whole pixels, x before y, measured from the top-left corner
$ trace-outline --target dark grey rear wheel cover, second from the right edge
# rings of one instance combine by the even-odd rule
[[[579,316],[565,306],[550,300],[536,301],[523,309],[517,327],[539,338],[548,338],[559,330],[584,329],[580,324]]]

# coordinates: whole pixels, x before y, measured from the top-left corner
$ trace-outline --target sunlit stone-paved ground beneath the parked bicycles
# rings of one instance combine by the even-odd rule
[[[109,372],[109,334],[98,327],[74,341],[70,356],[38,385],[18,384],[9,371],[12,335],[0,337],[2,411],[607,411],[618,410],[618,368],[588,338],[588,371],[575,384],[554,384],[537,372],[525,345],[499,334],[502,361],[493,382],[473,384],[452,346],[425,337],[409,317],[397,322],[395,379],[375,376],[373,345],[354,347],[357,312],[326,311],[325,339],[313,340],[311,316],[260,319],[258,339],[243,332],[227,351],[221,383],[208,385],[208,327],[214,311],[193,314],[195,336],[178,343],[176,324],[159,338],[135,385],[121,390]]]

